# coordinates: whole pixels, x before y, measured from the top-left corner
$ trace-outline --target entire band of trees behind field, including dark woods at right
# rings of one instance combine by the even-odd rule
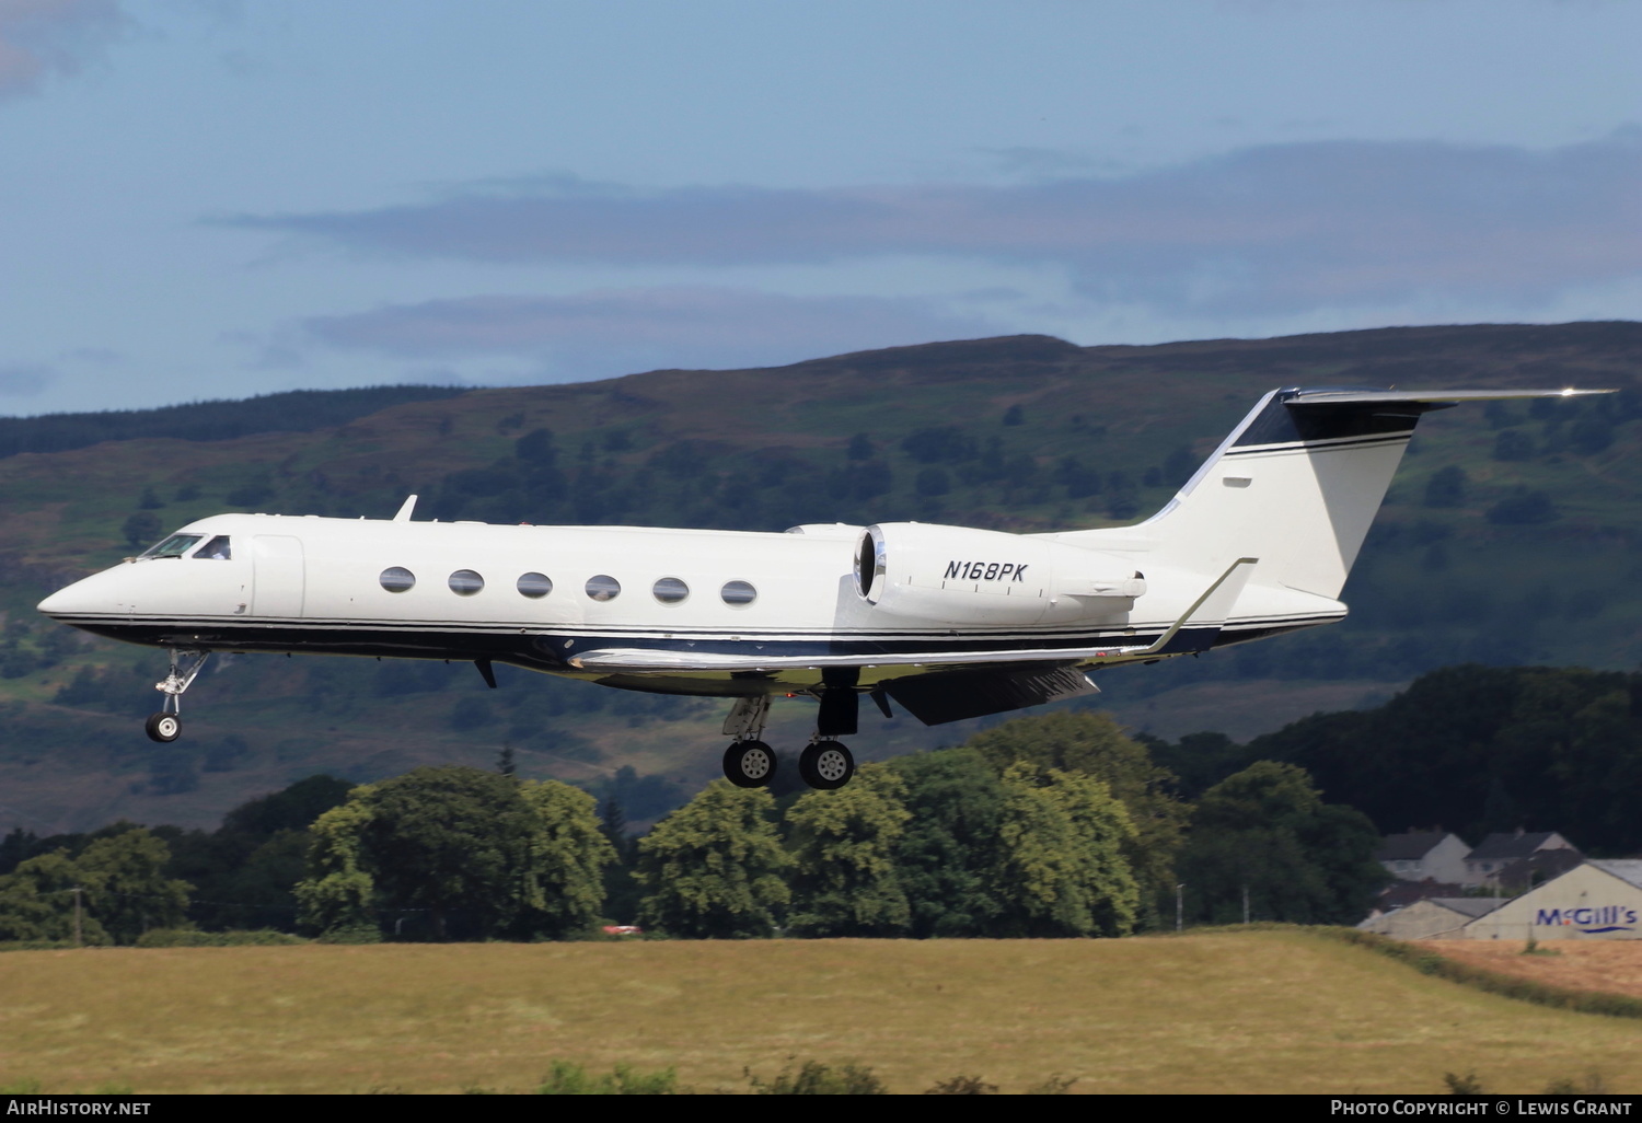
[[[112,824],[0,839],[0,939],[130,941],[172,923],[417,939],[1079,936],[1355,923],[1381,832],[1555,829],[1642,849],[1642,673],[1452,667],[1386,704],[1236,744],[1126,736],[1066,708],[862,767],[832,793],[631,768],[581,791],[499,772],[310,777],[213,832]],[[442,865],[443,864],[443,865]],[[1184,883],[1184,888],[1177,887]],[[72,890],[79,887],[80,893]],[[141,903],[138,903],[141,901]],[[100,929],[97,928],[100,926]],[[102,933],[103,936],[99,936]]]

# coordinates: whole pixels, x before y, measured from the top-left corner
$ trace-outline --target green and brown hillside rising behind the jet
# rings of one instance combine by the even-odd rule
[[[655,798],[718,767],[721,708],[709,703],[524,673],[491,694],[471,667],[268,657],[222,660],[187,698],[186,739],[156,749],[140,717],[161,655],[76,637],[33,604],[190,519],[386,517],[415,491],[424,517],[496,522],[1115,525],[1161,506],[1258,394],[1284,384],[1624,392],[1430,417],[1346,588],[1346,624],[1115,672],[1102,704],[1164,736],[1190,721],[1246,737],[1452,662],[1631,668],[1642,658],[1639,368],[1642,323],[1629,322],[1098,348],[1011,337],[775,369],[397,387],[374,412],[360,412],[376,404],[368,392],[346,391],[120,424],[8,419],[0,827],[53,832],[120,814],[209,826],[314,772],[489,765],[504,744],[525,775],[598,785],[627,765],[662,777]],[[110,438],[69,447],[61,433]],[[11,448],[56,451],[3,455]],[[777,706],[772,742],[801,742],[811,721],[805,703]],[[965,732],[872,717],[854,747],[874,759]]]

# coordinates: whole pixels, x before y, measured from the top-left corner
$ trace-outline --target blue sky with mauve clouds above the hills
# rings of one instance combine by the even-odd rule
[[[0,0],[0,414],[1642,319],[1632,0]]]

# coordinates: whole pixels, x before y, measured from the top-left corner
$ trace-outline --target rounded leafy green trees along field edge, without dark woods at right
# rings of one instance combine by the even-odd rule
[[[1189,803],[1144,744],[1089,713],[864,765],[837,791],[714,782],[639,839],[604,803],[443,767],[361,786],[312,777],[213,834],[15,831],[0,941],[69,939],[74,887],[82,939],[133,942],[187,924],[566,939],[609,919],[721,939],[1123,936],[1172,926],[1182,882],[1190,923],[1240,919],[1245,900],[1259,919],[1350,923],[1384,880],[1373,826],[1304,770],[1261,762]]]

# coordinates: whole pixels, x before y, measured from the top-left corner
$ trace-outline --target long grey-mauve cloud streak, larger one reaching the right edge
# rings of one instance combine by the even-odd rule
[[[1642,130],[1552,151],[1320,141],[1015,186],[637,190],[568,179],[420,205],[240,217],[369,254],[516,264],[1049,264],[1189,315],[1535,304],[1642,274]]]

